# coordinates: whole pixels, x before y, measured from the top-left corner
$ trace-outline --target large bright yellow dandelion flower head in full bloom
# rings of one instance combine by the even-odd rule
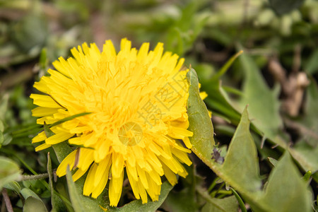
[[[158,200],[165,175],[171,184],[187,175],[182,163],[191,165],[187,131],[188,70],[180,70],[184,59],[165,52],[158,43],[153,51],[143,43],[139,51],[123,39],[116,53],[110,40],[102,52],[95,44],[84,43],[71,49],[73,57],[54,61],[34,87],[45,95],[30,98],[39,107],[33,116],[37,124],[53,124],[66,117],[90,112],[41,132],[33,143],[40,151],[67,141],[77,148],[59,165],[57,175],[66,167],[76,170],[76,181],[88,175],[83,194],[97,198],[109,180],[110,205],[117,206],[122,194],[124,170],[136,199],[147,202],[147,193]],[[182,146],[180,140],[184,141]]]

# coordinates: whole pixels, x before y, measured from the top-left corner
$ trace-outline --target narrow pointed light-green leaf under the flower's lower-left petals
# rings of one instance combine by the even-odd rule
[[[71,171],[69,170],[69,166],[66,170],[66,179],[67,179],[67,185],[69,187],[69,196],[71,198],[72,206],[74,208],[74,211],[88,211],[88,208],[86,208],[86,205],[83,205],[83,201],[81,201],[82,194],[78,194],[75,183],[73,182]]]

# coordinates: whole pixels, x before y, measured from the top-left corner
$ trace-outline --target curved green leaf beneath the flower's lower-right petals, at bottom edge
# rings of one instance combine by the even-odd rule
[[[110,208],[110,211],[121,211],[121,212],[143,212],[143,211],[157,211],[157,209],[163,204],[167,194],[169,194],[170,190],[172,189],[172,185],[169,182],[164,182],[161,185],[161,192],[158,201],[148,201],[147,204],[142,204],[141,200],[131,201],[129,204],[122,206],[121,208]]]

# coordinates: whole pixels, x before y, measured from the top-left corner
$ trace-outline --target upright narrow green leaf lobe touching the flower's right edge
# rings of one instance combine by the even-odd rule
[[[196,154],[202,154],[204,158],[211,158],[213,146],[213,125],[208,110],[199,94],[198,76],[194,69],[187,73],[189,83],[189,98],[187,102],[187,111],[189,115],[189,131],[193,132],[191,137],[192,151]],[[202,150],[200,153],[197,150]]]

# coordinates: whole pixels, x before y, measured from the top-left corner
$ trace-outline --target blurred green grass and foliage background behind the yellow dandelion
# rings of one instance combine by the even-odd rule
[[[243,102],[263,99],[264,105],[251,107],[252,118],[263,114],[259,120],[267,124],[256,123],[253,129],[262,175],[271,170],[264,160],[278,159],[282,150],[271,148],[279,144],[275,139],[260,148],[259,130],[270,139],[280,134],[288,145],[300,146],[296,151],[302,160],[295,156],[299,154],[292,155],[302,172],[306,167],[317,170],[318,1],[314,0],[0,0],[0,154],[15,160],[27,174],[46,172],[47,151],[35,153],[30,143],[38,131],[30,125],[35,124],[29,99],[33,83],[54,69],[52,61],[69,57],[71,47],[95,42],[102,49],[105,40],[112,40],[118,50],[122,37],[137,48],[142,42],[151,47],[163,42],[165,50],[184,57],[185,65],[197,71],[202,90],[209,95],[206,104],[213,112],[220,145],[228,145]],[[240,50],[251,60],[235,61],[224,75],[218,73]],[[264,85],[253,79],[254,84],[246,83],[253,71],[259,71]],[[220,95],[214,98],[213,78],[222,81],[227,93],[222,100]],[[254,88],[259,93],[253,93]],[[266,110],[269,107],[273,110]],[[57,167],[53,152],[51,157]],[[215,175],[202,163],[196,165],[208,187]],[[317,173],[314,179],[317,182]],[[316,182],[312,189],[317,196]],[[25,182],[23,187],[42,198],[50,196],[39,181]],[[18,196],[10,195],[16,206],[22,206]]]

